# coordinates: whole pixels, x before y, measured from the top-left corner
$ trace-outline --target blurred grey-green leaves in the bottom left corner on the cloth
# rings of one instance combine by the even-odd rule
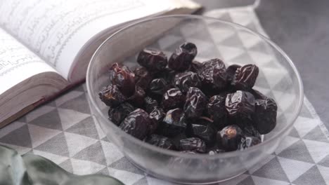
[[[121,181],[101,174],[79,176],[41,156],[25,154],[0,145],[1,185],[124,185]]]

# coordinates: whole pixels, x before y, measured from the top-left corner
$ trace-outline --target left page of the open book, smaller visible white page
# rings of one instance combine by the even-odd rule
[[[36,74],[55,69],[0,29],[0,95]]]

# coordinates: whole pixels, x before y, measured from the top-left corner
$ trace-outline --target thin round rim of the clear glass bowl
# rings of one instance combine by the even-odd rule
[[[280,53],[280,55],[282,55],[285,58],[285,60],[288,61],[288,63],[290,64],[290,67],[292,67],[292,70],[294,71],[295,76],[297,77],[297,81],[298,81],[298,86],[299,86],[298,108],[295,109],[295,112],[292,114],[293,118],[292,118],[291,123],[286,124],[284,128],[282,128],[281,130],[278,130],[278,132],[276,132],[273,135],[273,137],[265,140],[264,142],[262,142],[260,144],[257,144],[256,146],[252,146],[250,148],[247,148],[243,151],[228,151],[228,152],[225,152],[225,153],[220,153],[219,155],[205,155],[205,153],[195,153],[195,154],[181,153],[181,152],[178,152],[178,151],[171,151],[171,150],[167,150],[167,149],[162,149],[162,148],[157,147],[157,146],[153,146],[151,144],[143,142],[143,141],[141,141],[139,139],[136,139],[135,137],[127,134],[126,132],[122,131],[119,127],[117,127],[117,125],[115,125],[111,121],[109,121],[108,118],[106,118],[105,115],[102,113],[100,107],[97,106],[96,101],[93,100],[93,95],[94,95],[95,92],[91,91],[91,83],[92,82],[91,82],[89,76],[91,74],[91,69],[93,67],[93,62],[95,62],[94,59],[95,59],[96,55],[98,55],[99,51],[105,45],[105,43],[107,43],[110,39],[115,37],[120,32],[124,31],[125,29],[129,29],[130,27],[134,27],[136,25],[143,24],[144,22],[160,20],[160,19],[166,19],[166,18],[191,18],[191,19],[198,19],[198,20],[212,20],[212,21],[216,21],[216,22],[221,22],[221,23],[224,23],[226,25],[231,25],[233,27],[238,27],[240,29],[244,29],[245,31],[250,32],[250,34],[254,34],[255,36],[259,36],[261,39],[266,41],[266,43],[269,43],[270,46],[275,48],[278,51],[278,53]],[[93,53],[93,55],[91,57],[91,60],[89,62],[87,71],[86,71],[86,88],[87,88],[89,100],[91,102],[91,104],[89,104],[89,105],[93,106],[96,109],[97,114],[101,115],[101,118],[102,118],[103,121],[110,123],[109,125],[110,125],[112,130],[119,132],[122,135],[122,137],[127,137],[127,139],[129,139],[129,142],[134,142],[134,144],[138,144],[138,146],[143,146],[145,149],[156,151],[158,153],[162,153],[162,154],[165,154],[165,155],[168,155],[168,156],[183,157],[183,158],[194,158],[194,159],[232,158],[232,157],[238,157],[242,154],[247,155],[247,153],[252,153],[254,151],[257,151],[262,146],[266,146],[266,144],[271,142],[273,139],[276,139],[277,137],[280,137],[280,135],[282,135],[283,132],[288,130],[295,123],[295,121],[297,119],[297,116],[299,115],[299,112],[302,109],[302,105],[303,105],[303,101],[304,101],[304,88],[303,88],[302,78],[301,78],[297,68],[295,67],[295,64],[290,59],[290,57],[288,57],[288,55],[278,45],[276,45],[276,43],[273,43],[273,41],[271,41],[266,36],[263,36],[262,34],[254,32],[251,29],[249,29],[247,27],[244,27],[243,25],[239,25],[239,24],[234,23],[234,22],[228,22],[228,21],[225,21],[225,20],[220,20],[220,19],[217,19],[217,18],[202,16],[202,15],[180,15],[180,14],[178,14],[178,15],[162,15],[162,16],[158,16],[158,17],[155,17],[155,18],[144,18],[144,19],[141,19],[141,20],[136,20],[135,22],[132,22],[129,25],[127,25],[125,27],[122,27],[121,29],[117,30],[117,32],[111,34],[107,39],[105,39],[105,41],[103,41],[103,43],[101,43],[101,45],[98,46],[96,51]],[[100,126],[101,126],[101,124],[100,124]]]

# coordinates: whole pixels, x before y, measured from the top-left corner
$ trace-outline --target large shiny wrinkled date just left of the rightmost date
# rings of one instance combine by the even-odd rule
[[[228,116],[250,118],[250,115],[254,113],[254,95],[242,90],[228,94],[225,107]]]

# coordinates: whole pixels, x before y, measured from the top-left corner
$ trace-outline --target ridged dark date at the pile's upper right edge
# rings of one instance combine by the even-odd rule
[[[236,69],[231,85],[236,90],[250,90],[256,82],[259,69],[254,64],[247,64]]]

